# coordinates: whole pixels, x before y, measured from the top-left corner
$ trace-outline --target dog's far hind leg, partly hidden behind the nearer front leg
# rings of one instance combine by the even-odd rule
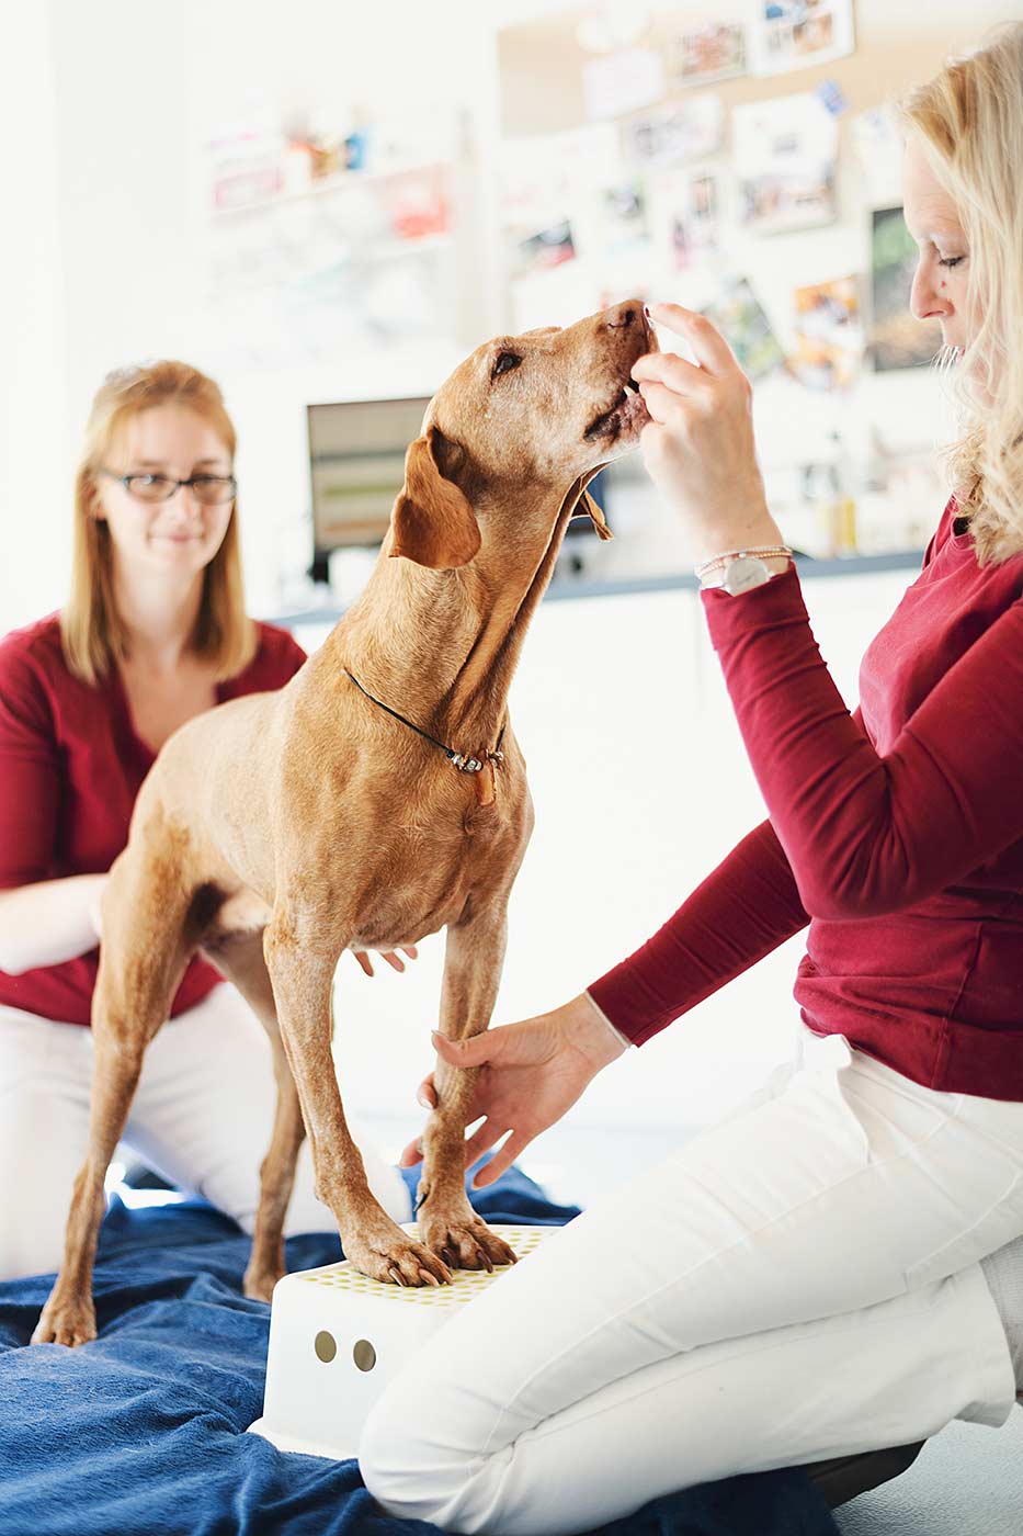
[[[273,988],[263,957],[263,931],[217,934],[203,942],[217,969],[232,982],[266,1029],[273,1052],[276,1109],[270,1146],[260,1167],[260,1204],[244,1293],[269,1301],[284,1273],[284,1217],[295,1186],[295,1164],[306,1137],[295,1078],[276,1023]]]

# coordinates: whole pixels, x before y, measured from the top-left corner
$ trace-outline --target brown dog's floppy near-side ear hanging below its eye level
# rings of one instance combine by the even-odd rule
[[[467,565],[479,551],[479,524],[468,498],[447,479],[438,453],[450,444],[436,425],[416,438],[406,453],[406,484],[390,518],[389,554],[404,554],[430,570]]]

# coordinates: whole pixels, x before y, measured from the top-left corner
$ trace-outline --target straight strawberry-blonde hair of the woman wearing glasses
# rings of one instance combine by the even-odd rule
[[[97,475],[126,422],[154,406],[184,406],[201,416],[233,459],[235,429],[220,389],[187,362],[146,362],[117,369],[100,386],[86,422],[75,475],[71,593],[60,614],[65,659],[75,677],[98,684],[127,656],[127,630],[114,598],[111,530],[95,516]],[[214,662],[217,679],[243,671],[257,651],[246,616],[238,542],[238,502],[224,539],[203,571],[203,596],[189,648]]]

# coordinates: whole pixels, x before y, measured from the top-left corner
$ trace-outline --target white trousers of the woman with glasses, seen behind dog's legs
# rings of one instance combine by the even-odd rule
[[[0,1279],[55,1270],[89,1124],[92,1031],[0,1008]],[[276,1087],[270,1044],[224,983],[151,1041],[123,1140],[158,1174],[252,1232]],[[409,1190],[350,1126],[369,1186],[395,1221]],[[286,1233],[336,1232],[301,1149]]]

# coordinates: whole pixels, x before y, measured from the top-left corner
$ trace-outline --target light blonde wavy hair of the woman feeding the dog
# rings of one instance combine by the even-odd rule
[[[952,373],[960,436],[942,458],[982,565],[1023,551],[1023,23],[989,35],[897,103],[969,246],[980,324]]]

